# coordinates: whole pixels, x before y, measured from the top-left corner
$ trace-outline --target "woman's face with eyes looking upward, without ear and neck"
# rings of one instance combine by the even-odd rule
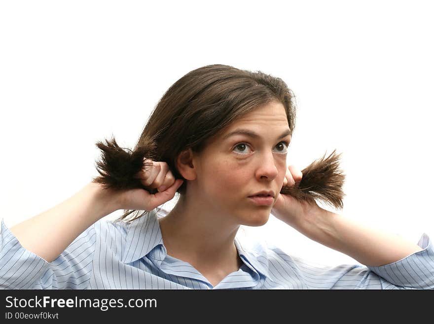
[[[248,131],[251,134],[233,132]],[[233,134],[232,134],[233,133]],[[285,108],[270,103],[228,126],[196,156],[194,195],[210,211],[248,226],[267,222],[282,188],[291,136]],[[252,196],[271,190],[271,205],[258,205]]]

